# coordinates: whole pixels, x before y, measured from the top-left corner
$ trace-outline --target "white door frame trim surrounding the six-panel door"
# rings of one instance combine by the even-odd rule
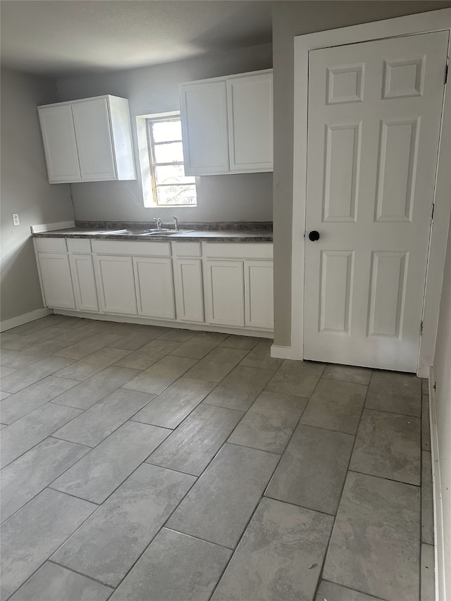
[[[291,346],[288,348],[273,347],[273,356],[282,356],[285,359],[303,359],[304,357],[304,233],[307,206],[308,118],[308,85],[306,85],[306,82],[308,82],[309,77],[309,51],[357,42],[369,42],[370,40],[389,37],[402,37],[446,30],[451,31],[451,8],[295,37]],[[450,49],[448,48],[448,61],[449,52]],[[429,367],[433,364],[440,309],[440,293],[443,283],[443,268],[445,266],[447,230],[451,214],[449,202],[449,190],[451,186],[451,174],[449,171],[451,163],[451,136],[443,135],[443,131],[451,131],[451,93],[449,85],[445,87],[438,168],[435,178],[434,218],[431,227],[428,264],[426,268],[423,335],[420,337],[419,359],[416,372],[421,378],[428,378]],[[294,168],[294,166],[297,166],[297,168]],[[281,354],[279,354],[280,352]]]

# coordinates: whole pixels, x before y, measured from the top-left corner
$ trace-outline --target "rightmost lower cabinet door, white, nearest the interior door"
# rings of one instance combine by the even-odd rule
[[[274,329],[273,261],[245,261],[246,326]]]

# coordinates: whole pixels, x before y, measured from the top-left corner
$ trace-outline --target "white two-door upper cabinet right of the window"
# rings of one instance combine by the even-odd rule
[[[180,86],[186,175],[273,170],[272,69]]]

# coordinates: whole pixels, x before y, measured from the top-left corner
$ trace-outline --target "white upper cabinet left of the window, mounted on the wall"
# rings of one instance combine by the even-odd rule
[[[127,99],[108,95],[38,111],[50,183],[136,179]]]

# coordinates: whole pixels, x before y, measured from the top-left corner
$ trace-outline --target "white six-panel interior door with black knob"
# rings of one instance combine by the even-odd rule
[[[310,52],[304,359],[416,371],[447,44]]]

